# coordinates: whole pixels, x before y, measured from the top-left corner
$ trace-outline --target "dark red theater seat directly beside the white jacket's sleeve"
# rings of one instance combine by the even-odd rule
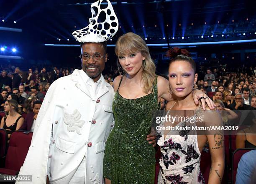
[[[10,143],[5,159],[5,168],[0,168],[1,174],[16,175],[28,153],[32,132],[14,131],[10,136]]]

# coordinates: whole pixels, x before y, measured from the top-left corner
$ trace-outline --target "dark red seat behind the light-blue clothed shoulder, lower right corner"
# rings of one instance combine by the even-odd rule
[[[243,156],[248,151],[251,151],[253,149],[248,149],[248,148],[242,148],[242,149],[236,149],[233,153],[233,161],[232,161],[232,183],[236,183],[236,171],[238,168],[238,163]]]

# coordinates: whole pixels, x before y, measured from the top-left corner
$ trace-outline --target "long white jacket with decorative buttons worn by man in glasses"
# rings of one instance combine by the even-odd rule
[[[19,175],[32,175],[33,184],[66,184],[67,175],[86,157],[86,184],[102,184],[105,141],[113,128],[114,89],[103,76],[96,99],[84,71],[59,78],[50,86]],[[83,79],[82,79],[83,76]],[[86,78],[88,77],[88,78]],[[52,136],[51,136],[52,132]],[[16,184],[31,184],[19,182]]]

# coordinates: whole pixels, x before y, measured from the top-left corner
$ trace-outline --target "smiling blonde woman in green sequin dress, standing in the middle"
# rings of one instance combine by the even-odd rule
[[[168,81],[156,76],[148,46],[139,35],[121,36],[115,54],[124,75],[114,79],[115,126],[105,148],[105,184],[154,184],[155,150],[146,138],[151,130],[152,111],[159,109],[161,98],[172,99]],[[202,96],[207,97],[198,90],[195,102]],[[213,107],[212,101],[207,102]]]

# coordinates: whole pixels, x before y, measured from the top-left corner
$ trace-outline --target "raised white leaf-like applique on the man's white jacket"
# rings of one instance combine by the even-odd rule
[[[81,114],[77,109],[73,111],[72,114],[64,112],[64,123],[67,125],[67,130],[69,132],[76,131],[78,135],[82,135],[80,132],[80,128],[84,125],[85,121],[80,120]]]

